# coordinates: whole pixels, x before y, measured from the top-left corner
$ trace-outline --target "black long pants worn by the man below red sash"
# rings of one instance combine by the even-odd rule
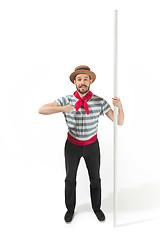
[[[84,146],[75,145],[66,140],[65,143],[65,204],[73,212],[76,204],[76,175],[80,158],[83,157],[90,179],[90,196],[94,212],[101,206],[101,179],[100,179],[100,147],[98,139]]]

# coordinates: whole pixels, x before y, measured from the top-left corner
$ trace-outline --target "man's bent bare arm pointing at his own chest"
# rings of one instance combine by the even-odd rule
[[[40,107],[38,110],[38,113],[40,114],[53,114],[53,113],[58,113],[58,112],[67,112],[71,113],[74,110],[74,107],[70,104],[66,106],[59,106],[57,101],[54,101],[52,103],[48,103]]]

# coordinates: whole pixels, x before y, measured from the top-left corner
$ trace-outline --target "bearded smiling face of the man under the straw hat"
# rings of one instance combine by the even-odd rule
[[[76,80],[74,80],[74,84],[76,85],[77,91],[81,94],[85,94],[89,91],[90,84],[92,83],[92,79],[89,79],[88,74],[78,74],[76,76]]]

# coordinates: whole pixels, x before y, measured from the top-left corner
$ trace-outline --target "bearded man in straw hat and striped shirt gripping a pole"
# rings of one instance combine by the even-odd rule
[[[96,75],[90,68],[81,65],[75,68],[70,80],[76,86],[73,94],[56,99],[39,109],[41,114],[63,112],[67,126],[68,137],[65,142],[65,204],[67,212],[64,216],[66,223],[70,223],[74,216],[76,205],[76,174],[80,158],[83,157],[90,179],[90,196],[92,209],[99,221],[105,220],[101,206],[100,179],[100,147],[97,138],[98,118],[106,115],[114,121],[114,111],[108,102],[93,94],[90,84]],[[113,104],[118,107],[118,125],[124,122],[124,112],[119,98],[115,97]]]

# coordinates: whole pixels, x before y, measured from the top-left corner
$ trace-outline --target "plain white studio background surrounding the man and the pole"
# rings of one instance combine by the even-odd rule
[[[90,90],[114,109],[115,9],[118,97],[125,113],[118,126],[118,222],[160,216],[158,1],[1,1],[1,239],[150,239],[158,231],[158,220],[113,228],[113,122],[106,116],[98,130],[106,222],[92,212],[82,158],[76,215],[65,224],[67,126],[62,113],[38,114],[43,104],[75,91],[69,75],[78,65],[95,72]]]

